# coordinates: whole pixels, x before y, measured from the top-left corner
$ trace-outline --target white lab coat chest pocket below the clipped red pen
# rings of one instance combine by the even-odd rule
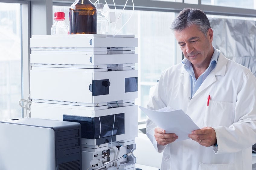
[[[209,106],[205,107],[203,127],[226,126],[229,127],[234,121],[234,104],[210,100]]]

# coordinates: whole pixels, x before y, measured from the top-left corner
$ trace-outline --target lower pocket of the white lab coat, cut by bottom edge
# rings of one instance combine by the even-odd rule
[[[234,170],[234,164],[203,164],[199,163],[198,170]]]

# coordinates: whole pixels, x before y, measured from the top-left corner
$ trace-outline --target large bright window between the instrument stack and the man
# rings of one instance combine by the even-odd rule
[[[68,14],[69,7],[53,6],[54,12]],[[114,11],[114,9],[111,9]],[[116,10],[118,16],[122,10]],[[174,19],[172,12],[134,11],[129,22],[117,32],[132,15],[132,10],[124,10],[117,21],[116,29],[110,25],[109,34],[134,34],[138,38],[138,99],[136,104],[147,106],[149,89],[156,85],[163,70],[174,65],[174,36],[170,26]],[[66,22],[69,19],[66,17]],[[112,28],[112,29],[111,29]],[[146,115],[139,112],[139,121],[146,119]]]

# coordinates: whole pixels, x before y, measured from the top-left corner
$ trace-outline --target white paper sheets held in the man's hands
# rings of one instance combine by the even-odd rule
[[[179,138],[176,141],[190,139],[191,131],[200,129],[193,120],[182,110],[173,110],[165,107],[159,110],[150,110],[145,107],[139,108],[165,133],[175,133]]]

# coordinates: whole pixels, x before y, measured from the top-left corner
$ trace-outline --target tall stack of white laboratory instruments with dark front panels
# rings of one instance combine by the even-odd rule
[[[135,169],[138,72],[134,35],[35,35],[31,117],[79,122],[82,169]]]

